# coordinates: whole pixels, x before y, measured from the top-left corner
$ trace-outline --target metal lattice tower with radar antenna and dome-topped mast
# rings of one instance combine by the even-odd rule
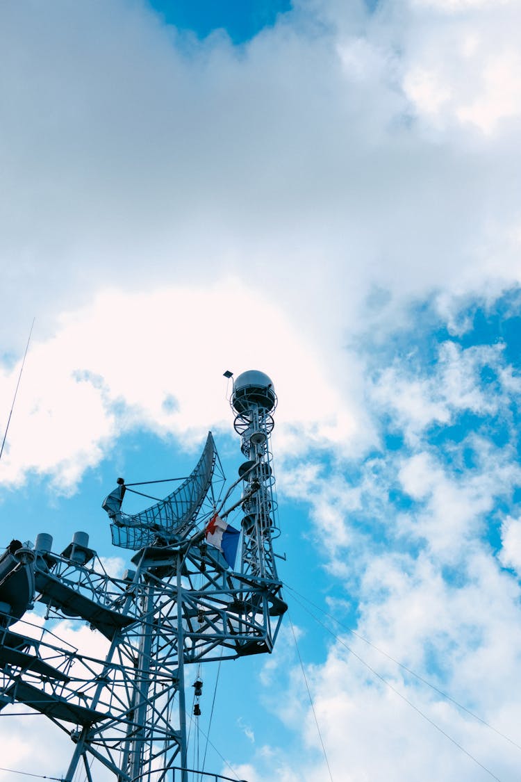
[[[0,557],[0,708],[23,703],[70,736],[65,782],[80,765],[87,780],[102,766],[117,782],[201,780],[187,769],[185,667],[273,649],[287,609],[272,547],[277,397],[267,375],[247,371],[230,404],[247,461],[219,507],[211,433],[191,475],[151,508],[122,511],[123,479],[105,498],[112,543],[135,552],[123,578],[105,572],[86,533],[61,554],[42,533],[34,547],[12,540]],[[237,484],[241,499],[227,508]],[[226,519],[237,508],[235,567],[239,533]],[[36,635],[23,619],[34,600],[48,619],[87,622],[103,653],[82,654],[46,628]]]

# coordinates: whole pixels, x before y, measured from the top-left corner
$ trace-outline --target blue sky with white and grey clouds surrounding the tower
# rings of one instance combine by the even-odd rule
[[[4,543],[124,559],[116,477],[184,475],[212,429],[233,479],[223,371],[279,396],[316,719],[288,616],[223,670],[216,772],[519,779],[519,27],[518,0],[0,5],[2,435],[35,318]],[[0,736],[66,770],[42,719]]]

